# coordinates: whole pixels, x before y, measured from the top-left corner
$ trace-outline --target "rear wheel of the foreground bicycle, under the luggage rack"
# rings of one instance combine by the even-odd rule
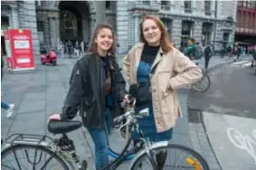
[[[69,170],[60,156],[43,146],[10,146],[2,151],[1,157],[1,170]]]

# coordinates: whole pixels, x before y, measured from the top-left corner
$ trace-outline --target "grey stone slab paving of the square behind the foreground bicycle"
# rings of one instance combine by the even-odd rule
[[[121,57],[120,57],[121,58]],[[2,99],[15,104],[14,115],[11,119],[5,118],[5,112],[1,114],[2,138],[13,133],[46,134],[47,120],[52,113],[60,113],[62,102],[69,88],[71,69],[77,58],[59,59],[57,66],[43,66],[39,59],[36,60],[36,70],[31,73],[11,74],[4,70],[2,81]],[[210,67],[226,61],[219,60],[210,63]],[[120,65],[122,61],[119,60]],[[193,123],[187,114],[187,89],[178,91],[184,117],[177,120],[174,128],[173,143],[194,148],[209,162],[212,169],[220,169],[219,163],[213,155],[213,149],[208,145],[204,134],[204,127],[200,123]],[[77,117],[77,119],[80,119]],[[112,134],[114,136],[115,134]],[[85,128],[81,128],[69,134],[74,140],[81,159],[89,162],[92,169],[94,164],[94,146]],[[113,139],[114,138],[114,139]],[[122,139],[110,135],[110,146],[122,146]],[[121,165],[119,169],[127,169],[128,164]]]

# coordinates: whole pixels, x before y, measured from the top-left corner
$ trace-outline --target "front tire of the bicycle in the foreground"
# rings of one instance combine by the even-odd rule
[[[199,162],[200,165],[203,167],[202,170],[210,169],[209,165],[205,161],[204,157],[189,147],[180,146],[180,145],[176,145],[176,144],[168,144],[167,146],[157,146],[157,147],[153,148],[153,150],[154,150],[154,152],[157,153],[157,151],[159,152],[160,150],[166,150],[168,148],[184,150],[186,153],[189,153],[191,156],[194,156],[196,158],[197,162]],[[141,156],[138,156],[137,159],[130,166],[131,167],[130,170],[137,170],[137,167],[139,167],[142,164],[142,162],[145,160],[145,157],[147,157],[146,152],[143,153]]]

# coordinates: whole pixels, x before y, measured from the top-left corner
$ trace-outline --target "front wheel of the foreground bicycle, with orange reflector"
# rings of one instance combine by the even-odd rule
[[[167,146],[154,148],[153,152],[156,153],[156,165],[158,170],[209,170],[209,166],[204,160],[204,157],[186,146],[168,144]],[[137,160],[130,169],[154,170],[147,153],[137,157]]]

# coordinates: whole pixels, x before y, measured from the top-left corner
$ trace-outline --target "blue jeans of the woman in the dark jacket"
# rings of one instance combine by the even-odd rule
[[[104,115],[110,114],[109,109],[106,109]],[[88,127],[90,137],[92,138],[95,146],[95,165],[96,170],[109,165],[109,137],[108,129],[105,121],[105,127],[92,128]]]

